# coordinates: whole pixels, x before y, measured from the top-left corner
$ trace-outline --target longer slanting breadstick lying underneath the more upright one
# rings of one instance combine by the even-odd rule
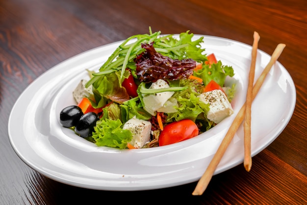
[[[279,58],[279,56],[281,55],[281,52],[283,51],[285,47],[285,44],[279,44],[275,51],[273,52],[271,59],[269,61],[269,63],[267,64],[267,66],[264,68],[264,70],[262,71],[260,77],[257,79],[254,87],[253,87],[253,100],[255,99],[258,91],[260,90],[263,81],[265,79],[265,77],[267,76],[267,74],[269,73],[269,71],[271,70],[271,67],[274,65],[274,63],[277,61],[277,59]],[[217,149],[216,153],[214,154],[211,162],[209,163],[207,169],[205,170],[205,173],[203,174],[203,176],[201,177],[201,179],[198,181],[192,195],[202,195],[205,191],[205,189],[207,188],[215,170],[216,167],[218,166],[218,164],[220,163],[224,153],[226,152],[227,147],[229,146],[234,134],[236,133],[237,129],[239,128],[239,126],[241,125],[243,119],[244,119],[244,113],[245,113],[245,106],[246,104],[244,103],[240,109],[240,111],[238,112],[238,114],[235,116],[228,132],[226,133],[224,139],[222,140],[219,148]]]

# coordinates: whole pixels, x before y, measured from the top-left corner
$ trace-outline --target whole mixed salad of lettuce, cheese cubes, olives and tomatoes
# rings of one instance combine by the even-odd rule
[[[189,31],[133,35],[88,71],[73,92],[75,105],[60,113],[65,128],[120,149],[164,146],[199,135],[233,113],[231,66],[206,54],[203,37]]]

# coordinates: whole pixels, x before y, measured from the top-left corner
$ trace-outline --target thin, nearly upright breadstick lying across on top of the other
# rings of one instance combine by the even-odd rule
[[[252,48],[252,61],[249,73],[249,81],[246,94],[245,118],[244,118],[244,167],[246,171],[250,171],[252,167],[251,156],[251,121],[252,121],[252,102],[253,102],[253,85],[255,78],[256,57],[258,42],[260,36],[254,31],[254,42]]]

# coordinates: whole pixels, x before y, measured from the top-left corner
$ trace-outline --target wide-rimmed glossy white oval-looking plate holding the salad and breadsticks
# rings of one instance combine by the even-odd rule
[[[195,35],[199,38],[202,35]],[[234,114],[209,131],[173,145],[120,150],[97,147],[59,123],[60,111],[75,104],[72,91],[85,69],[97,71],[121,42],[83,52],[34,80],[15,103],[8,122],[11,145],[32,169],[62,183],[98,190],[149,190],[200,179],[245,102],[251,46],[229,39],[204,36],[206,53],[214,52],[235,71],[237,94]],[[257,78],[270,55],[258,51]],[[230,83],[230,79],[227,80]],[[256,80],[255,80],[256,81]],[[286,69],[277,62],[252,107],[252,155],[267,147],[288,124],[296,90]],[[243,162],[243,128],[238,129],[215,174]],[[243,168],[242,168],[243,169]]]

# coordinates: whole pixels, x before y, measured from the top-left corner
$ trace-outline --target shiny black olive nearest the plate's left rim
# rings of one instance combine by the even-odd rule
[[[81,108],[76,105],[65,107],[60,113],[60,123],[65,128],[71,128],[77,125],[82,115]]]

